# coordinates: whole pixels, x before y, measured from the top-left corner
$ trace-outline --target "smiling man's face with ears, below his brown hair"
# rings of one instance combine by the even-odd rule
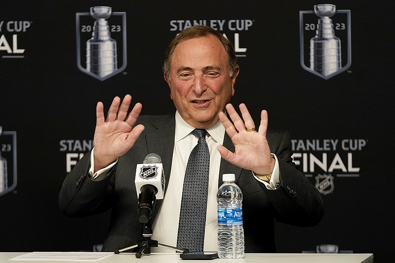
[[[235,93],[238,68],[231,77],[229,59],[221,41],[213,36],[178,43],[170,61],[170,97],[182,118],[199,129],[218,121],[218,113]]]

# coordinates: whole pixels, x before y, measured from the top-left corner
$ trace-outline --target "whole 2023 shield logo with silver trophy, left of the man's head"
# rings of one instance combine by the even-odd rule
[[[77,67],[101,81],[126,68],[126,12],[93,6],[76,13]]]

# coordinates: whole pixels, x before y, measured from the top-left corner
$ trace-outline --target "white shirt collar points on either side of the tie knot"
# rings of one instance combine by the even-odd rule
[[[175,141],[178,142],[185,138],[187,135],[189,135],[195,127],[189,125],[176,111],[176,136],[175,136]],[[224,137],[225,137],[225,127],[222,125],[221,121],[218,120],[217,123],[215,123],[213,126],[210,128],[207,128],[206,131],[208,134],[210,134],[211,138],[216,141],[219,144],[223,144],[224,142]]]

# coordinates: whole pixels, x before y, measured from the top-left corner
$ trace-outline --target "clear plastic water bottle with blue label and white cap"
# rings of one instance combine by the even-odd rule
[[[241,259],[244,256],[243,194],[235,184],[235,174],[224,174],[217,192],[218,257]]]

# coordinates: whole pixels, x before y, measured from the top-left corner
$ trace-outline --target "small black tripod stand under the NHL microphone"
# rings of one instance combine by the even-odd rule
[[[124,252],[126,250],[138,247],[140,249],[138,250],[138,252],[136,252],[136,258],[140,259],[142,253],[151,254],[151,248],[154,248],[154,247],[163,247],[163,248],[171,249],[174,251],[182,252],[183,254],[189,252],[189,250],[186,248],[177,248],[177,247],[172,247],[169,245],[158,243],[157,240],[151,239],[151,236],[152,236],[152,226],[151,226],[151,220],[149,220],[148,223],[143,223],[143,239],[137,241],[132,246],[117,249],[114,253],[119,254],[119,253]]]

